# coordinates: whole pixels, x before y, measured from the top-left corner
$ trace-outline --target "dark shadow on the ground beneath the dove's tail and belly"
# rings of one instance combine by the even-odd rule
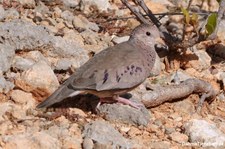
[[[132,95],[130,93],[126,93],[121,95],[121,97],[124,98],[131,98]],[[86,95],[77,95],[75,97],[69,97],[64,99],[61,102],[55,103],[52,105],[52,108],[79,108],[83,111],[91,111],[96,112],[96,107],[99,103],[99,98],[92,94],[86,94]],[[104,103],[103,103],[104,104]]]

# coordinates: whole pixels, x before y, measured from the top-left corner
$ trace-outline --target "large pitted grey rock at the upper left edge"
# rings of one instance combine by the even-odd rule
[[[2,43],[9,43],[17,50],[34,50],[35,48],[48,45],[52,37],[43,26],[35,26],[31,22],[14,19],[0,24],[0,39]]]

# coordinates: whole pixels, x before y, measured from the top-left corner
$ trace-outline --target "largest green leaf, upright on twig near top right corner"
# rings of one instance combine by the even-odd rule
[[[207,21],[207,24],[205,26],[206,31],[207,31],[207,35],[210,35],[210,34],[213,33],[213,31],[216,29],[216,23],[217,23],[217,14],[212,13],[208,17],[208,21]]]

